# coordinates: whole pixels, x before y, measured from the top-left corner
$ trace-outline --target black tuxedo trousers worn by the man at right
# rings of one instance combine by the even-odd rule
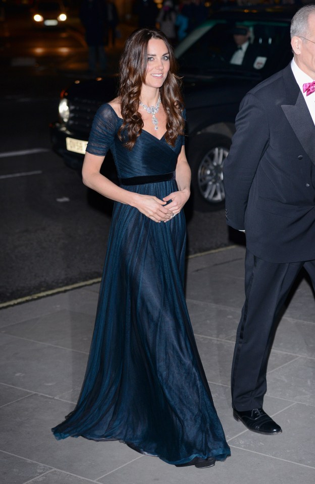
[[[302,267],[308,272],[315,290],[315,260],[273,263],[246,251],[246,298],[236,334],[231,378],[232,406],[238,411],[263,406],[276,325]]]

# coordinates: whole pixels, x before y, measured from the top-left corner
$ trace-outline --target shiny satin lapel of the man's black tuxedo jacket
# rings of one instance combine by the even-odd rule
[[[291,70],[291,68],[290,68]],[[291,71],[292,73],[292,71]],[[287,77],[287,76],[286,76]],[[289,77],[289,76],[288,76]],[[292,82],[297,86],[292,73]],[[285,79],[286,81],[286,79]],[[298,87],[298,86],[297,86]],[[297,139],[302,145],[304,151],[308,154],[311,162],[315,164],[315,125],[307,108],[305,99],[301,90],[298,88],[298,95],[295,104],[293,104],[293,90],[288,87],[289,96],[292,104],[282,104],[282,110],[288,119]],[[295,86],[294,86],[295,91]],[[313,94],[315,95],[315,94]]]

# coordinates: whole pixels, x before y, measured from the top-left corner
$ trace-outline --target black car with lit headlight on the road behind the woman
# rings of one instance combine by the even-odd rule
[[[222,168],[240,101],[249,89],[290,62],[290,22],[295,11],[292,7],[221,10],[175,49],[184,80],[186,153],[196,210],[224,206]],[[245,62],[245,53],[241,65],[231,64],[235,35],[245,32],[250,55]],[[93,116],[100,104],[115,97],[117,80],[112,76],[76,81],[62,93],[60,120],[51,125],[51,140],[69,166],[82,166]]]

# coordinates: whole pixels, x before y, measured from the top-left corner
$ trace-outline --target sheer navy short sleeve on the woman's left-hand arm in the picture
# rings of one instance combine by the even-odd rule
[[[102,104],[94,116],[86,151],[105,156],[114,143],[118,116],[109,104]]]

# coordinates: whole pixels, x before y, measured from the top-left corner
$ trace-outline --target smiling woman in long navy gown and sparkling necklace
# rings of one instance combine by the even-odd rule
[[[83,180],[116,204],[85,380],[53,432],[209,467],[230,450],[183,290],[190,169],[174,72],[167,37],[135,31],[121,57],[119,96],[95,115]],[[120,187],[100,174],[109,149]]]

